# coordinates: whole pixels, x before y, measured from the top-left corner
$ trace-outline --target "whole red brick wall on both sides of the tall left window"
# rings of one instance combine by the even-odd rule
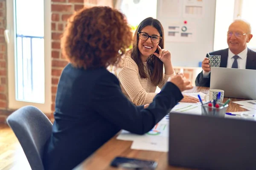
[[[52,113],[55,110],[55,94],[61,71],[67,61],[61,55],[60,36],[64,31],[68,17],[74,11],[84,6],[111,6],[116,0],[51,0],[51,30],[52,30]],[[0,123],[5,122],[6,117],[12,113],[8,108],[8,86],[7,86],[7,49],[4,38],[6,29],[6,0],[0,0]],[[48,115],[47,115],[48,116]],[[52,115],[50,116],[52,118]]]

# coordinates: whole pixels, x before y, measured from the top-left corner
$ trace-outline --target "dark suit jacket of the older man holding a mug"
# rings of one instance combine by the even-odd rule
[[[228,48],[224,50],[214,51],[209,53],[210,55],[221,55],[221,65],[220,67],[227,67],[227,58],[228,58]],[[207,54],[206,57],[209,57]],[[249,49],[247,51],[247,59],[246,59],[246,69],[256,70],[256,52]],[[211,79],[211,73],[209,74],[209,77],[203,78],[203,71],[198,74],[198,76],[195,79],[195,85],[196,86],[202,86],[202,87],[210,87],[210,79]]]

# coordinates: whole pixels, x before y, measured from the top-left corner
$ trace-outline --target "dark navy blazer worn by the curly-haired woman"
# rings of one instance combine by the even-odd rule
[[[121,129],[148,132],[182,98],[179,88],[167,82],[144,109],[124,96],[116,76],[105,68],[84,70],[68,64],[58,83],[52,136],[44,148],[45,170],[73,169]]]

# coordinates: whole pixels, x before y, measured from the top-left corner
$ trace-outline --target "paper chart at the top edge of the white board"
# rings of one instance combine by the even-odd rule
[[[205,0],[183,0],[183,17],[204,17]]]

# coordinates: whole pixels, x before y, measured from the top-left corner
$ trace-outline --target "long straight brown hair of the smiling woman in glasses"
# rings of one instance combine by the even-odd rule
[[[162,40],[159,42],[159,46],[161,48],[164,48],[164,36],[163,36],[163,26],[160,23],[159,20],[154,19],[152,17],[148,17],[145,20],[143,20],[139,26],[137,27],[135,33],[134,33],[134,43],[133,47],[131,49],[131,58],[136,62],[139,68],[139,74],[141,78],[148,78],[145,69],[143,61],[140,57],[140,51],[138,48],[138,42],[139,42],[139,35],[138,32],[140,32],[145,26],[153,26],[157,29],[157,31],[160,34],[160,37],[162,37]],[[159,53],[158,49],[155,51],[156,53]],[[157,86],[163,79],[163,62],[156,57],[154,54],[152,54],[150,57],[148,57],[147,60],[147,69],[150,75],[151,82]]]

